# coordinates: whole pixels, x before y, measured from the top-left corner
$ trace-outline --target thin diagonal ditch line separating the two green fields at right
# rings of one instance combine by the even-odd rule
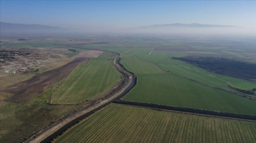
[[[135,56],[137,56],[137,54],[135,54]],[[138,57],[138,56],[137,56],[137,58],[139,58],[139,59],[142,60],[142,61],[147,61],[147,60],[144,60],[144,59],[142,59],[142,58],[140,58],[140,57]],[[242,97],[245,97],[245,98],[249,98],[249,99],[252,99],[252,100],[256,100],[256,98],[254,98],[254,97],[250,97],[250,96],[247,96],[247,95],[244,95],[244,94],[239,94],[239,93],[233,92],[233,91],[231,91],[231,90],[227,90],[227,89],[223,89],[223,88],[221,88],[221,87],[216,87],[216,86],[213,86],[213,85],[209,85],[209,84],[207,84],[207,83],[199,82],[198,80],[194,80],[194,79],[192,79],[192,78],[184,77],[184,76],[182,76],[182,75],[179,75],[179,74],[170,72],[170,71],[166,70],[165,68],[163,68],[162,66],[159,66],[159,65],[157,65],[156,63],[153,63],[153,62],[151,62],[151,61],[147,61],[147,62],[152,63],[152,64],[158,66],[158,67],[161,68],[164,72],[170,73],[170,74],[172,74],[172,75],[176,75],[176,76],[178,76],[178,77],[182,77],[182,78],[185,78],[185,79],[188,79],[188,80],[192,80],[193,82],[201,83],[201,84],[203,84],[203,85],[206,85],[206,86],[209,86],[209,87],[213,87],[213,88],[215,88],[215,89],[220,89],[220,90],[223,90],[223,91],[226,91],[226,92],[230,92],[230,93],[232,93],[232,94],[239,95],[239,96],[242,96]]]

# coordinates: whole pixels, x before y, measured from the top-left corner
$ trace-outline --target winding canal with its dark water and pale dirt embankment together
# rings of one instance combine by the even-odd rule
[[[110,51],[108,51],[110,52]],[[114,53],[114,52],[111,52]],[[113,66],[121,73],[125,78],[121,85],[114,90],[111,94],[107,95],[106,97],[92,103],[90,106],[83,107],[79,111],[72,112],[71,114],[63,117],[59,121],[51,124],[47,128],[39,131],[38,133],[34,134],[28,140],[24,141],[23,143],[50,143],[54,138],[61,135],[66,129],[70,128],[74,124],[78,123],[81,119],[93,114],[95,111],[99,111],[103,107],[111,104],[115,100],[119,99],[126,93],[128,93],[137,83],[137,77],[133,74],[128,72],[123,66],[119,63],[121,54],[115,53],[116,57],[114,59]]]

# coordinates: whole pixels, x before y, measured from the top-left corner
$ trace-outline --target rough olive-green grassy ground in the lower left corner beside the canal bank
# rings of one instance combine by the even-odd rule
[[[48,105],[54,90],[44,90],[25,104],[5,102],[10,95],[0,94],[0,142],[20,143],[78,108]]]

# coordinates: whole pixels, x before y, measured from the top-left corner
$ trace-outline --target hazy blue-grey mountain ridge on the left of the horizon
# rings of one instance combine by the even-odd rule
[[[11,24],[0,22],[0,32],[2,34],[37,34],[54,33],[67,31],[65,28],[57,26],[44,26],[39,24]]]

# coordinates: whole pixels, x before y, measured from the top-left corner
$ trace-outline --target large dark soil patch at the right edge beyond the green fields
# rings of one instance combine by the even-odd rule
[[[256,83],[256,64],[215,57],[173,57],[173,59],[199,66],[209,72],[242,78]]]

